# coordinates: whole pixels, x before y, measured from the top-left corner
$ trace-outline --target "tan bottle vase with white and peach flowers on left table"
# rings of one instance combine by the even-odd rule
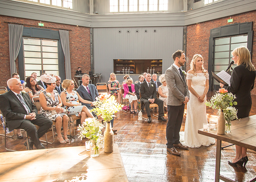
[[[104,151],[105,153],[113,152],[114,134],[111,129],[110,120],[115,117],[114,113],[120,111],[122,106],[118,104],[115,97],[110,94],[99,95],[95,102],[93,102],[95,108],[91,111],[95,112],[97,116],[101,116],[106,122],[106,130],[104,131]]]

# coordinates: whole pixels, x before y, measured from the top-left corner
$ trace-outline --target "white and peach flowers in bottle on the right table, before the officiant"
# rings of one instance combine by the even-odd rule
[[[237,102],[235,102],[234,99],[236,99],[236,95],[233,95],[232,93],[228,93],[225,88],[220,88],[219,91],[214,96],[211,97],[210,101],[208,100],[205,103],[206,106],[208,107],[212,107],[213,109],[214,108],[218,109],[219,116],[222,116],[223,114],[223,118],[227,121],[225,122],[225,124],[229,131],[231,126],[231,120],[238,119],[237,109],[232,107],[233,105],[237,105]],[[219,125],[219,121],[218,121],[218,125]],[[218,130],[219,130],[219,126],[218,126]],[[221,133],[223,132],[221,131]],[[221,134],[221,133],[218,133],[218,134]]]

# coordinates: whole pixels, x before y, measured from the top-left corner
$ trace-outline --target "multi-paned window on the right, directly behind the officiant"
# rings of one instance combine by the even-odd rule
[[[230,62],[232,61],[231,52],[240,46],[247,47],[247,35],[231,36],[215,39],[214,46],[214,73],[224,70],[226,71]],[[232,66],[234,68],[234,66]],[[232,71],[230,69],[230,71]],[[219,83],[214,80],[214,85]]]

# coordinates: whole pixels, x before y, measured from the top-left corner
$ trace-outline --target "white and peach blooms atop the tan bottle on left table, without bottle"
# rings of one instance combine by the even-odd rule
[[[115,117],[114,113],[122,109],[121,104],[115,100],[115,97],[110,94],[99,95],[93,102],[95,108],[91,111],[95,112],[97,116],[101,115],[104,122],[110,122]]]

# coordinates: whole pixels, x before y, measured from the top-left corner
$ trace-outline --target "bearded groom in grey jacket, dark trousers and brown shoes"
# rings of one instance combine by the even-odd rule
[[[168,86],[167,110],[168,123],[166,126],[167,151],[173,155],[180,155],[175,147],[188,149],[180,143],[180,127],[183,119],[185,103],[189,100],[188,86],[185,75],[181,70],[186,62],[184,51],[173,53],[174,63],[165,72]]]

